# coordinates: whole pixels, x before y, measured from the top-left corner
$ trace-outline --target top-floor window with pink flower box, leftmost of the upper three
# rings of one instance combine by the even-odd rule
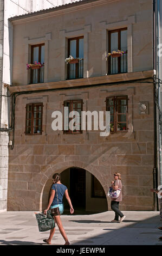
[[[44,63],[44,44],[31,46],[31,64]],[[44,82],[44,65],[39,69],[31,69],[31,83]]]

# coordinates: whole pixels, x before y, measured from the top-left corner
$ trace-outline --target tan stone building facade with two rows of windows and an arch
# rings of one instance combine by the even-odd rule
[[[152,19],[148,18],[151,16],[151,0],[83,0],[9,20],[13,25],[9,92],[15,95],[15,113],[11,114],[15,126],[10,133],[14,147],[9,149],[9,211],[45,208],[51,178],[56,172],[61,173],[62,182],[68,187],[74,209],[76,205],[76,209],[81,207],[87,212],[111,210],[108,186],[114,172],[120,172],[121,210],[153,210],[150,188],[154,167],[154,72]],[[113,49],[117,34],[121,48]],[[75,54],[74,40],[80,49],[76,57],[83,62],[82,66],[77,64],[82,73],[78,70],[77,74],[69,75],[72,65],[74,70],[78,68],[76,64],[65,63],[69,53]],[[42,80],[37,80],[38,75],[33,78],[36,71],[26,70],[35,47],[44,51]],[[116,58],[106,58],[109,50],[125,50],[126,58],[119,57],[123,62],[118,59],[118,68],[111,66]],[[109,99],[117,103],[110,105],[113,103]],[[99,130],[75,134],[54,131],[53,112],[63,113],[64,106],[74,106],[75,102],[81,103],[82,111],[113,111],[114,130],[110,135],[102,137]],[[35,132],[36,126],[31,128],[28,121],[32,118],[28,114],[36,106],[40,109],[40,123]],[[120,114],[124,114],[122,118]],[[34,120],[35,112],[31,115]]]

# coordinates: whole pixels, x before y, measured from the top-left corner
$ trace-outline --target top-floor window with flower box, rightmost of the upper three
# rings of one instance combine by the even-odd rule
[[[127,72],[127,28],[108,32],[108,52],[124,51],[121,57],[108,57],[108,74]]]

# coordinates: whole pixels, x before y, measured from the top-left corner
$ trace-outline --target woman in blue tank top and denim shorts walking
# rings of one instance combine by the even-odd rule
[[[56,191],[57,191],[57,193],[56,193]],[[71,202],[69,194],[68,194],[67,187],[64,186],[63,184],[61,184],[60,174],[55,173],[53,175],[53,185],[51,186],[51,190],[50,190],[50,198],[49,198],[48,206],[47,206],[47,209],[44,210],[44,214],[47,214],[47,211],[49,209],[53,209],[53,208],[56,208],[56,207],[59,207],[60,214],[62,214],[63,213],[63,202],[62,202],[63,195],[65,195],[65,197],[66,197],[66,199],[69,203],[70,214],[73,214],[74,209],[73,209],[72,202]],[[58,196],[58,198],[57,198],[57,196]],[[68,241],[68,237],[66,235],[66,232],[64,231],[60,215],[54,216],[53,218],[54,218],[55,222],[57,223],[57,226],[59,227],[61,235],[63,236],[63,239],[65,241],[64,245],[69,245],[70,243]],[[51,239],[52,239],[54,233],[55,233],[55,228],[50,230],[49,238],[44,239],[43,241],[48,243],[48,245],[50,245],[51,244]]]

